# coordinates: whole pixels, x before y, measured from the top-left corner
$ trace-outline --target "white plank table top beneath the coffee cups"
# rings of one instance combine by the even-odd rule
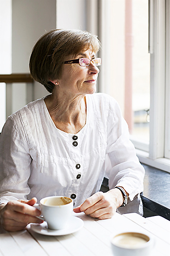
[[[107,220],[92,219],[84,213],[77,216],[83,219],[84,226],[70,235],[44,236],[32,231],[30,225],[24,231],[0,234],[0,256],[113,256],[111,238],[127,231],[153,236],[153,256],[170,255],[170,221],[160,216],[143,218],[136,213],[116,213]]]

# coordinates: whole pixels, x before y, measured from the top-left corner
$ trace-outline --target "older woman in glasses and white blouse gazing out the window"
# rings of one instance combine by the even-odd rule
[[[74,200],[74,212],[107,219],[142,214],[144,169],[118,103],[96,92],[99,41],[89,32],[52,30],[39,39],[30,72],[50,93],[8,117],[0,137],[1,224],[42,223],[34,203]],[[109,191],[99,192],[103,177]],[[124,206],[124,207],[121,207]]]

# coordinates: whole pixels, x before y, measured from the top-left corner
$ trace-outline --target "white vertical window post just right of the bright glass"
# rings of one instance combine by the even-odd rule
[[[150,0],[149,15],[153,17],[150,33],[153,51],[150,51],[150,143],[149,157],[164,157],[165,147],[165,0]],[[160,65],[161,64],[161,65]]]

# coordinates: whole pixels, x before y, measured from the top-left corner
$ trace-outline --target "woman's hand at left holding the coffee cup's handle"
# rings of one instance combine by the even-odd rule
[[[43,223],[43,220],[36,218],[40,211],[33,207],[37,198],[30,201],[18,200],[9,201],[0,207],[0,221],[7,231],[19,231],[25,229],[29,223]]]

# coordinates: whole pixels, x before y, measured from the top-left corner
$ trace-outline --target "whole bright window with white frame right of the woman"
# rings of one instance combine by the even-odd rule
[[[99,1],[102,66],[98,90],[120,104],[139,160],[167,172],[169,16],[166,0]]]

